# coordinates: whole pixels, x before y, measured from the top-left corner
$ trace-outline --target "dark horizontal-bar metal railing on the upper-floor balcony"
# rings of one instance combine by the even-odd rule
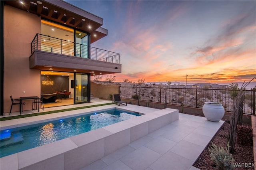
[[[34,50],[48,51],[51,53],[65,54],[120,64],[119,53],[89,47],[88,45],[69,42],[42,34],[36,34],[35,38],[31,42],[31,53],[33,53]]]

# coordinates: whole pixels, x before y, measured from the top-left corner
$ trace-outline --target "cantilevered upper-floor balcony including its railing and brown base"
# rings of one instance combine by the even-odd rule
[[[92,73],[121,73],[120,54],[36,34],[31,43],[30,69]]]

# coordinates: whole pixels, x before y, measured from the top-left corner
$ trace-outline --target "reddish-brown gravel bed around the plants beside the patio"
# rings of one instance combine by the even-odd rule
[[[210,152],[208,147],[211,146],[211,143],[216,144],[217,146],[226,147],[226,141],[228,136],[228,129],[230,124],[225,121],[222,127],[218,130],[215,136],[212,138],[211,142],[204,149],[202,154],[199,156],[198,160],[194,163],[193,166],[199,168],[200,170],[212,170],[214,169],[212,161],[210,159]],[[235,160],[234,163],[252,163],[253,159],[253,146],[242,146],[236,142],[235,152],[232,154]],[[236,167],[235,170],[254,170],[254,167]]]

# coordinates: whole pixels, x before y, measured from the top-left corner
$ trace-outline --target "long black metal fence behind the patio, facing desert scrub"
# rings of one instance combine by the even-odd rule
[[[244,94],[244,114],[255,115],[255,88],[248,89]],[[170,88],[170,87],[120,87],[120,97],[138,99],[172,105],[183,105],[202,108],[204,102],[222,103],[225,111],[232,112],[234,99],[239,90],[232,89],[201,89],[201,88]]]

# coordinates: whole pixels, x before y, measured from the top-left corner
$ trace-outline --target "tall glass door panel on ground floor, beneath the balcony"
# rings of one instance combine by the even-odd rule
[[[86,73],[75,73],[75,103],[88,102],[88,75]]]

